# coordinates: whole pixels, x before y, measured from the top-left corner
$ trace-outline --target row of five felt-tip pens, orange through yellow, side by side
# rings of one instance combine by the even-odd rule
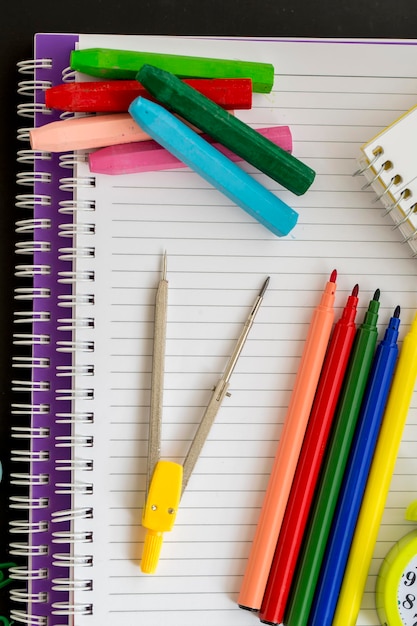
[[[417,377],[417,315],[377,345],[380,292],[314,311],[238,603],[266,624],[354,626]]]

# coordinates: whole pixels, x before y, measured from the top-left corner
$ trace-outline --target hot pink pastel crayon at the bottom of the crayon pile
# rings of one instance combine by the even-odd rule
[[[283,150],[292,151],[292,136],[288,126],[258,128],[257,131]],[[221,144],[214,143],[205,135],[203,137],[231,161],[242,160]],[[90,153],[88,161],[90,171],[95,174],[134,174],[185,167],[184,163],[153,140],[108,146]]]

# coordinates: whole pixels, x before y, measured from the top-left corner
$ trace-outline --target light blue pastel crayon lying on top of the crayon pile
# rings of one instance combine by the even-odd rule
[[[235,165],[172,113],[136,98],[129,113],[164,148],[279,237],[297,223],[298,213]]]

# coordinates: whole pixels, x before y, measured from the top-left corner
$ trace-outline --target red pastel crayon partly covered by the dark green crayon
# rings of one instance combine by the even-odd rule
[[[224,109],[252,107],[250,78],[195,78],[184,82]],[[137,80],[65,83],[45,91],[45,105],[77,113],[119,113],[126,112],[138,96],[154,100]]]

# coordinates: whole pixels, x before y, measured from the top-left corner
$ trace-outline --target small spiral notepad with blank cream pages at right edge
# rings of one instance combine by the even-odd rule
[[[413,138],[417,106],[361,148],[360,170],[417,256],[417,164]]]

